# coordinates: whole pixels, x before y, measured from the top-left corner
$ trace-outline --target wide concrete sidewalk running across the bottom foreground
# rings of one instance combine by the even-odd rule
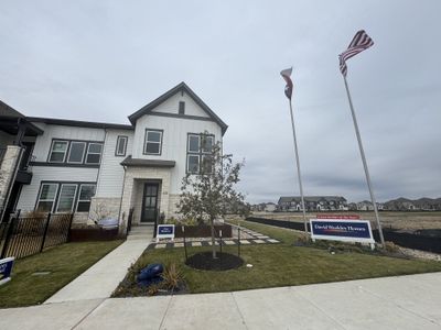
[[[0,309],[0,329],[441,329],[441,273]]]

